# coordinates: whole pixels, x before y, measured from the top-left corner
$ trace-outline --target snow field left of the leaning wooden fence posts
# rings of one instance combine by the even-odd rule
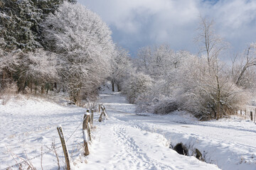
[[[0,169],[21,162],[21,159],[11,157],[11,154],[23,159],[31,159],[36,169],[41,169],[41,147],[43,146],[43,169],[58,169],[57,159],[52,149],[55,147],[64,164],[62,147],[58,136],[57,126],[62,125],[65,139],[73,133],[82,121],[84,108],[75,106],[60,106],[57,103],[38,98],[11,98],[5,106],[0,105]],[[82,125],[81,125],[82,127]],[[70,156],[74,159],[80,154],[82,135],[80,132],[68,140]],[[38,157],[39,156],[39,157]],[[15,168],[14,168],[15,169]]]

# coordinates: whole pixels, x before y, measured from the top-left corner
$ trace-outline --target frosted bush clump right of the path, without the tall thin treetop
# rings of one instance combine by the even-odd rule
[[[250,95],[235,84],[230,67],[218,58],[209,65],[205,56],[164,47],[146,47],[139,53],[137,70],[151,77],[152,83],[134,95],[132,102],[138,104],[138,111],[166,114],[179,109],[208,120],[235,114],[245,106]]]

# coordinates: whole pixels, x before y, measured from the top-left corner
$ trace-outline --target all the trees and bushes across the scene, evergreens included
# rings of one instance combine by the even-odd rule
[[[96,101],[100,85],[111,81],[137,111],[188,111],[200,120],[235,114],[255,99],[256,43],[230,55],[211,18],[198,23],[198,54],[156,44],[136,57],[74,0],[2,0],[0,18],[1,96],[64,93],[78,105]]]

